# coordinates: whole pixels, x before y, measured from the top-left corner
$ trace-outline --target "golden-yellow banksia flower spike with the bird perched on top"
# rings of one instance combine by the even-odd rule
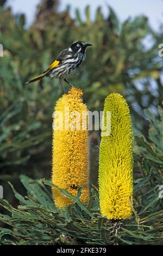
[[[80,200],[89,199],[88,113],[82,101],[83,92],[73,87],[54,108],[52,139],[52,182],[72,195],[83,187]],[[58,208],[72,203],[57,188],[53,188]]]

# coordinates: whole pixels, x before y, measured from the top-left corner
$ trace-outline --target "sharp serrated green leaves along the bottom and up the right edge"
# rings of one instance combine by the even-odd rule
[[[158,133],[162,129],[160,107],[159,112],[161,118],[155,119],[149,128],[151,134],[149,137],[153,142],[156,142]],[[151,112],[147,109],[146,113],[149,121],[152,122],[153,118],[149,114]],[[138,142],[143,143],[139,145]],[[160,172],[156,172],[161,164],[156,163],[157,169],[156,158],[151,157],[148,160],[154,152],[151,151],[152,147],[154,148],[154,144],[147,142],[145,137],[135,136],[135,170],[137,169],[139,176],[134,180],[134,205],[131,204],[133,216],[129,220],[108,221],[102,217],[99,211],[98,190],[94,186],[91,188],[91,197],[87,206],[79,200],[82,187],[78,189],[77,196],[60,189],[60,192],[70,197],[74,203],[67,208],[58,209],[46,185],[56,186],[45,179],[33,180],[21,175],[21,182],[27,191],[26,196],[22,196],[10,184],[15,197],[20,202],[18,208],[11,206],[5,199],[0,200],[3,208],[9,211],[9,214],[7,212],[0,214],[0,221],[6,224],[5,228],[0,228],[0,243],[7,245],[162,244],[163,204],[158,197],[158,185],[161,185],[162,176]],[[155,151],[159,151],[156,144]],[[141,156],[142,153],[148,156],[147,159]]]

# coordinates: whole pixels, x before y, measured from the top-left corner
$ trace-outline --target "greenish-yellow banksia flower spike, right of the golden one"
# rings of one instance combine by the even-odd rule
[[[110,118],[107,118],[110,113]],[[109,117],[109,115],[108,115]],[[99,150],[99,200],[102,216],[131,217],[133,200],[133,130],[129,107],[122,95],[105,99]],[[109,131],[106,133],[105,130]]]

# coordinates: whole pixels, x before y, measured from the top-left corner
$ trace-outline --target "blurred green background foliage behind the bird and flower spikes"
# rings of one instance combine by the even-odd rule
[[[153,172],[153,184],[161,184],[163,121],[158,105],[162,106],[163,100],[163,62],[158,45],[163,29],[153,31],[145,16],[120,23],[111,7],[108,17],[99,7],[91,20],[87,6],[84,19],[78,9],[72,19],[70,7],[59,12],[56,0],[40,1],[28,27],[24,14],[13,15],[6,4],[0,0],[0,42],[4,47],[0,58],[0,182],[4,197],[13,200],[8,180],[21,190],[21,173],[35,179],[51,176],[52,114],[62,90],[58,80],[51,78],[28,86],[24,83],[45,70],[75,40],[90,42],[93,47],[71,83],[83,89],[91,111],[102,111],[109,93],[126,98],[136,134],[135,176],[143,179]],[[67,85],[65,88],[68,90]],[[99,132],[90,133],[90,176],[96,186],[99,141]]]

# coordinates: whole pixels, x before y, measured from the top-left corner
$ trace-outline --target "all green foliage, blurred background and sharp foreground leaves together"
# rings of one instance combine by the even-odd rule
[[[16,197],[5,188],[1,200],[2,244],[35,243],[162,243],[162,58],[158,45],[163,31],[153,31],[145,16],[127,19],[122,24],[108,7],[95,19],[86,7],[84,19],[70,7],[60,13],[58,2],[43,0],[32,26],[23,14],[13,15],[7,1],[0,0],[0,43],[4,57],[0,62],[0,181],[15,183]],[[48,4],[49,3],[49,4]],[[137,211],[122,224],[108,222],[99,215],[98,192],[92,188],[87,208],[79,202],[58,210],[51,192],[39,180],[51,173],[53,105],[62,91],[57,80],[46,78],[30,86],[24,83],[40,74],[57,54],[74,40],[93,44],[71,83],[83,88],[89,110],[102,110],[105,96],[121,93],[129,102],[135,129],[134,208]],[[68,89],[68,87],[66,87]],[[160,105],[159,108],[157,106]],[[144,119],[143,109],[149,120]],[[158,111],[159,109],[159,111]],[[160,115],[160,117],[159,117]],[[91,181],[97,182],[99,134],[90,135]],[[20,173],[27,197],[18,182]],[[4,182],[2,182],[4,181]],[[67,193],[62,191],[62,193]],[[80,193],[80,190],[79,190]],[[8,209],[10,214],[5,212]],[[134,209],[133,209],[134,210]],[[86,235],[85,235],[86,234]]]

